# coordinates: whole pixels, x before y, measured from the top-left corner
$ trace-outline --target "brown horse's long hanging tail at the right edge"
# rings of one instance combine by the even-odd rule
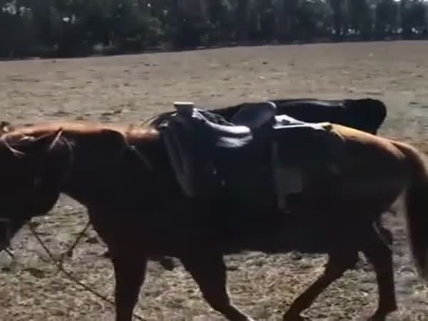
[[[409,186],[404,194],[407,235],[419,276],[428,280],[428,167],[424,154],[405,143],[394,146],[406,156],[412,168]]]

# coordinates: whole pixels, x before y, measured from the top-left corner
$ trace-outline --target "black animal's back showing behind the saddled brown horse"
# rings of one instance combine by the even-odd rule
[[[377,99],[318,99],[318,98],[295,98],[271,100],[277,106],[277,114],[286,114],[300,121],[320,123],[328,121],[339,125],[359,129],[367,133],[376,134],[379,127],[387,117],[387,108]],[[263,105],[260,103],[240,103],[235,106],[213,109],[211,112],[225,118],[227,121],[235,116],[243,108]],[[158,116],[153,126],[160,124],[171,113],[167,112]]]

